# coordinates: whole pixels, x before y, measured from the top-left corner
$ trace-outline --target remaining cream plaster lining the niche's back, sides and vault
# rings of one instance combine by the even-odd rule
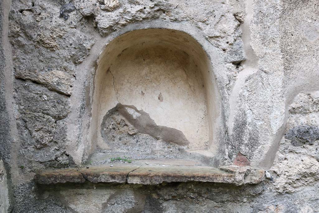
[[[121,103],[148,113],[159,126],[182,131],[190,150],[210,149],[218,103],[206,60],[195,40],[174,30],[132,31],[108,44],[95,76],[92,121],[98,146],[108,148],[99,125]]]

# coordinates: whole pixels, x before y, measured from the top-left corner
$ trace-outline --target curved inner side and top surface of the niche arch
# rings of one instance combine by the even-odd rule
[[[146,35],[145,35],[146,34]],[[133,37],[133,38],[132,38]],[[103,72],[103,69],[101,67],[109,66],[106,65],[107,63],[110,63],[110,61],[113,61],[115,57],[121,56],[121,53],[123,50],[126,50],[134,45],[137,44],[143,44],[145,42],[151,42],[156,40],[159,43],[166,43],[174,46],[176,49],[180,49],[183,52],[185,52],[187,55],[190,55],[194,61],[198,62],[198,65],[201,66],[200,72],[201,75],[204,77],[205,82],[204,82],[204,88],[205,89],[205,98],[207,101],[206,109],[207,109],[207,115],[208,115],[208,134],[209,134],[209,141],[208,141],[208,148],[204,147],[203,150],[200,150],[200,148],[197,148],[195,150],[189,150],[189,151],[194,151],[198,152],[200,154],[204,154],[206,156],[213,156],[214,155],[214,150],[212,148],[213,142],[213,137],[212,137],[212,117],[216,117],[216,100],[214,100],[214,97],[216,94],[212,94],[212,91],[214,91],[214,87],[216,86],[213,79],[211,78],[214,75],[210,75],[209,73],[212,72],[212,67],[211,63],[209,60],[209,57],[207,56],[207,53],[204,51],[202,46],[189,34],[179,31],[179,30],[174,30],[174,29],[163,29],[163,28],[147,28],[147,29],[139,29],[139,30],[133,30],[129,31],[125,34],[121,34],[120,36],[116,37],[113,39],[104,51],[100,54],[99,61],[98,61],[98,66],[96,70],[96,76],[95,76],[95,92],[93,96],[93,100],[103,100],[105,97],[103,97],[103,92],[105,91],[105,88],[103,88],[103,83],[99,81],[99,79],[102,79],[101,73]],[[187,45],[185,45],[187,43]],[[105,68],[104,68],[105,69]],[[109,70],[109,67],[108,67]],[[104,70],[105,72],[105,70]],[[114,75],[113,76],[113,81],[114,81]],[[114,82],[113,82],[114,83]],[[98,92],[96,92],[98,91]],[[119,102],[117,100],[117,102]],[[211,110],[210,108],[214,109]],[[101,143],[99,141],[102,141],[100,138],[100,127],[99,124],[101,123],[101,115],[106,114],[106,110],[101,110],[102,112],[99,113],[98,109],[101,110],[101,103],[94,103],[93,101],[93,108],[92,108],[92,118],[93,120],[97,120],[95,122],[95,129],[97,130],[95,132],[95,136],[97,138],[97,145],[102,148],[108,148],[108,147],[103,147],[101,146]],[[110,110],[110,109],[108,109]],[[204,153],[203,153],[204,151]]]

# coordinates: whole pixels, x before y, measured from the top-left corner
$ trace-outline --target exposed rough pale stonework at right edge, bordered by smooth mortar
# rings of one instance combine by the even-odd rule
[[[289,106],[286,132],[272,167],[279,192],[300,191],[319,178],[318,91],[298,94]]]

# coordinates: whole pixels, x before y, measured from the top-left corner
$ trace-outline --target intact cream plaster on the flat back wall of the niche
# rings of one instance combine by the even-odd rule
[[[182,131],[183,145],[204,149],[209,125],[201,70],[183,50],[153,40],[132,45],[114,59],[104,59],[109,62],[100,68],[106,76],[98,110],[101,114],[117,103],[133,105],[148,113],[156,125]]]

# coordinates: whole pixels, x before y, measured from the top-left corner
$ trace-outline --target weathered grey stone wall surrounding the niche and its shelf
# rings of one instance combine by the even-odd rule
[[[6,0],[1,12],[2,212],[319,212],[316,0]],[[151,27],[202,45],[223,108],[220,163],[241,153],[268,179],[35,185],[37,169],[87,160],[99,54],[115,37]]]

